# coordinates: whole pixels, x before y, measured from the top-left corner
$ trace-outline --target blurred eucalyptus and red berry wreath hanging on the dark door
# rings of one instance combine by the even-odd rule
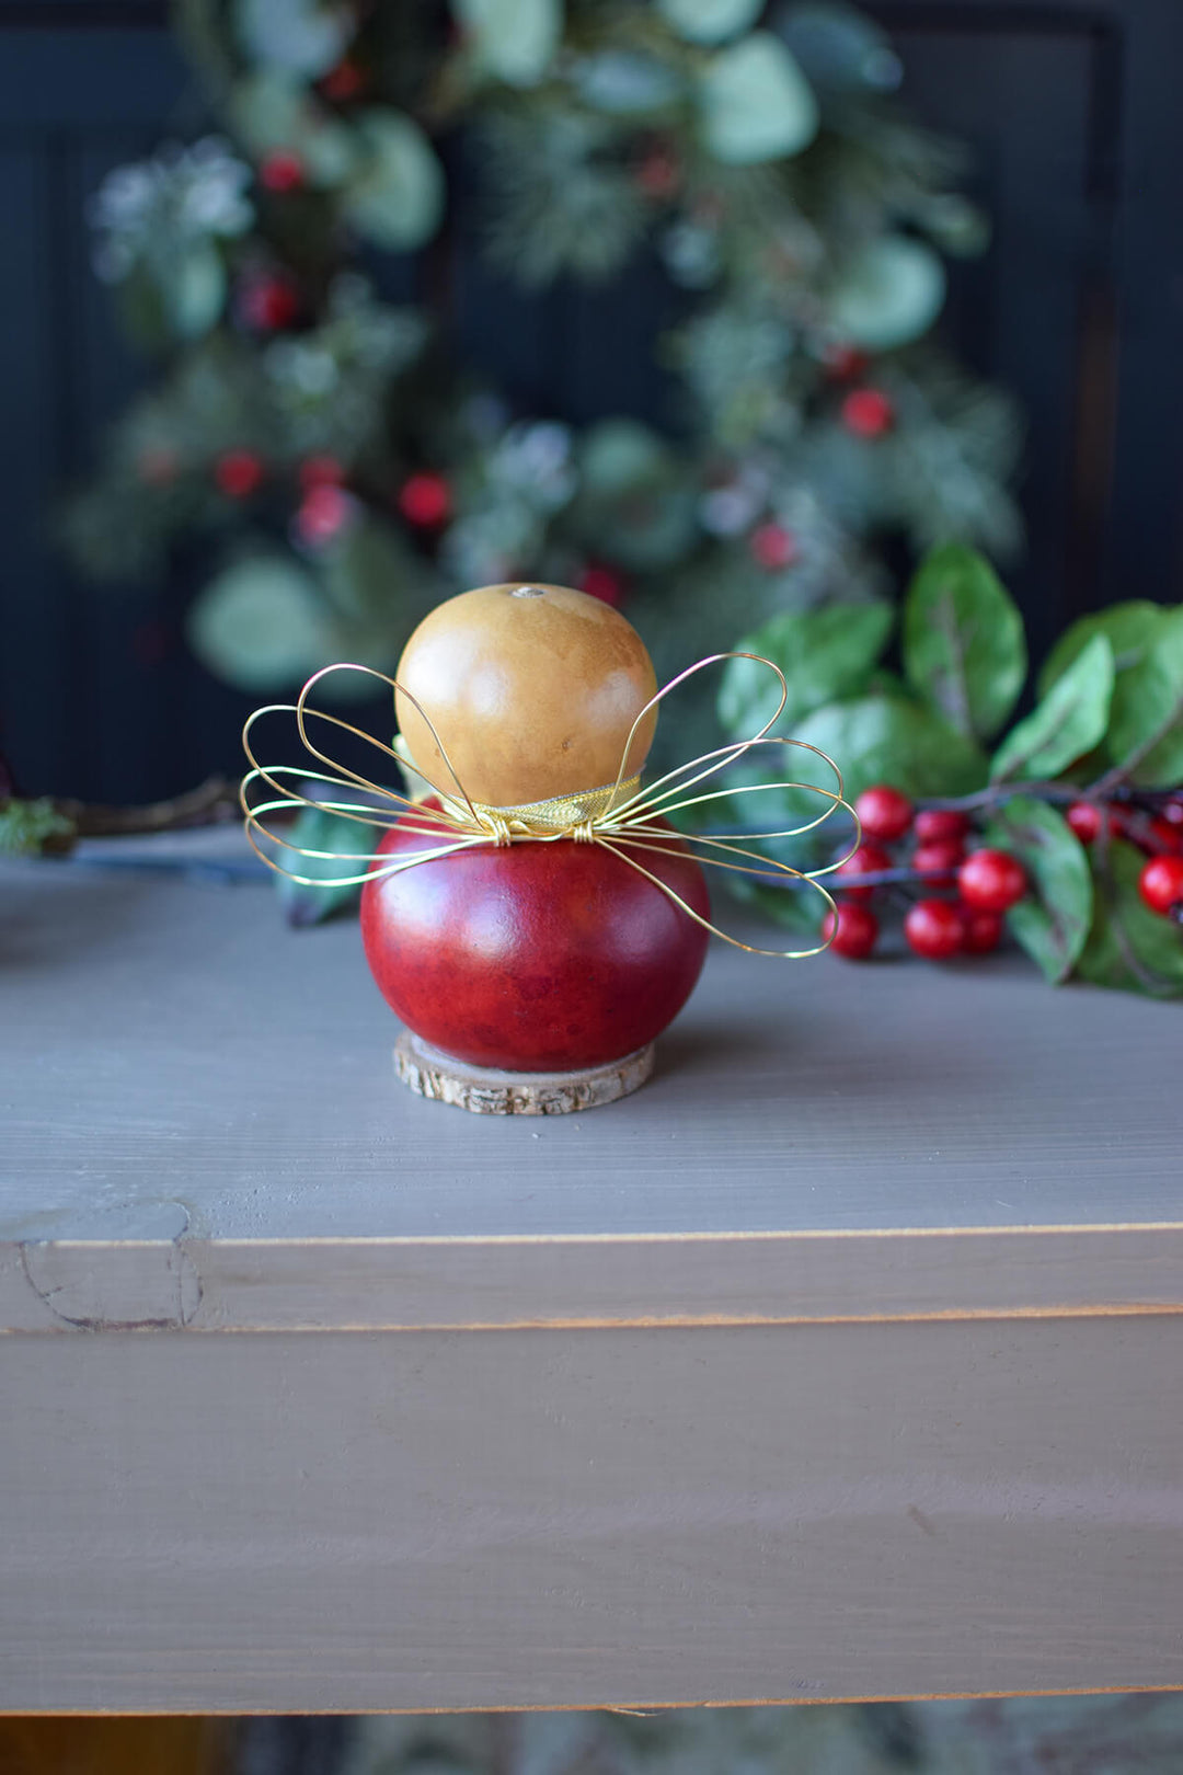
[[[988,220],[842,0],[183,0],[177,25],[216,133],[90,201],[156,371],[66,529],[112,580],[183,556],[229,685],[390,669],[438,598],[518,577],[624,605],[670,674],[878,596],[901,543],[1018,548],[1015,406],[931,339]],[[521,410],[447,300],[390,300],[468,211],[523,304],[654,268],[660,430]],[[670,754],[709,738],[708,699],[683,708]]]

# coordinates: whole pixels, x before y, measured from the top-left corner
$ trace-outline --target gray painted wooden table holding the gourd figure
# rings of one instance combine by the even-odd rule
[[[486,1120],[262,888],[0,912],[0,1708],[1183,1686],[1178,1006],[720,950]]]

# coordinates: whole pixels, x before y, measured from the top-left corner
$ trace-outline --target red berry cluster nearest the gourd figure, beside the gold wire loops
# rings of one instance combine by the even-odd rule
[[[1007,850],[968,850],[970,820],[951,808],[917,809],[897,788],[880,783],[855,802],[864,841],[835,872],[841,889],[837,914],[827,919],[832,948],[851,960],[871,955],[880,921],[871,911],[876,895],[921,888],[908,895],[905,941],[917,955],[945,962],[954,955],[984,955],[1002,937],[1002,914],[1027,893],[1022,863]],[[885,845],[912,841],[912,854],[896,859]],[[956,896],[952,896],[956,895]]]

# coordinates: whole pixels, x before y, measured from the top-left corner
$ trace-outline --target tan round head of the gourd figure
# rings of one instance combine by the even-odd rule
[[[644,641],[619,611],[569,586],[516,580],[436,605],[403,650],[399,685],[422,706],[472,801],[521,808],[637,776],[656,728]],[[456,783],[408,696],[403,744],[445,795]]]

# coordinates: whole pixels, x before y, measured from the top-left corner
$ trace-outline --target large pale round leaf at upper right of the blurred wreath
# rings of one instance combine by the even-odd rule
[[[731,167],[800,154],[818,133],[818,99],[768,30],[720,50],[701,76],[702,138]]]

